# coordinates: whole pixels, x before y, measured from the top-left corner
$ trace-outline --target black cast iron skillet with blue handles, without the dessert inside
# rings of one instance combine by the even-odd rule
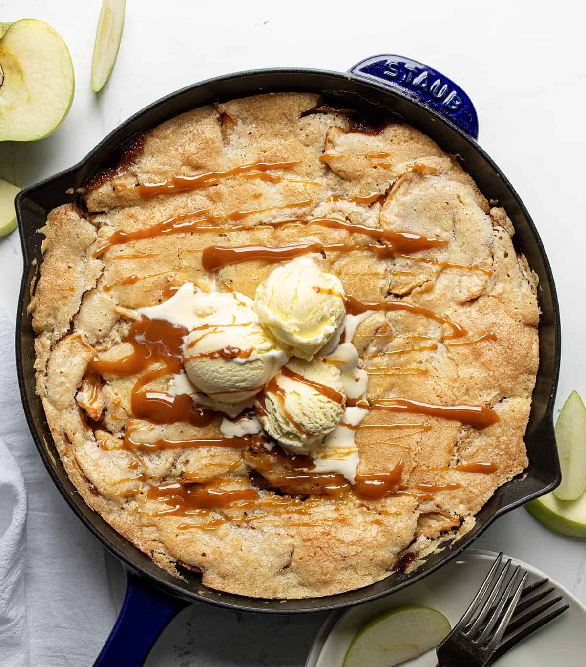
[[[541,362],[533,392],[526,442],[529,467],[501,486],[477,514],[475,528],[441,553],[427,558],[412,575],[393,574],[359,590],[307,600],[263,600],[222,593],[201,584],[201,577],[185,570],[185,580],[173,578],[127,542],[99,514],[85,504],[59,460],[43,406],[35,394],[33,330],[27,306],[41,260],[37,232],[53,207],[75,201],[70,188],[83,186],[97,169],[117,160],[121,146],[141,133],[189,109],[235,97],[277,91],[333,94],[342,105],[366,115],[396,116],[417,127],[448,153],[457,154],[488,199],[503,205],[515,225],[515,246],[527,255],[539,275],[539,353]],[[127,572],[128,588],[119,618],[96,666],[143,664],[165,625],[191,602],[207,602],[241,612],[301,614],[360,604],[392,593],[437,570],[473,542],[497,517],[551,491],[560,480],[552,411],[560,356],[559,311],[553,277],[545,250],[529,213],[500,169],[475,139],[475,109],[453,81],[416,61],[379,55],[361,61],[349,73],[315,69],[264,69],[218,77],[172,93],[129,118],[109,134],[85,159],[17,195],[16,210],[24,255],[17,327],[16,363],[19,388],[29,427],[53,482],[71,509],[93,534],[117,556]],[[69,190],[71,192],[71,190]]]

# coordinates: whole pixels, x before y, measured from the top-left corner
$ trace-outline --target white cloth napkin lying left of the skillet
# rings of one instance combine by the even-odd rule
[[[89,666],[116,616],[105,552],[37,453],[17,386],[14,326],[3,313],[0,341],[0,664]]]

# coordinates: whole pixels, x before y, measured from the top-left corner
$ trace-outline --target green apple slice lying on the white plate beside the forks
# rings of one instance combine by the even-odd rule
[[[417,658],[451,632],[449,620],[429,607],[399,607],[371,621],[352,640],[344,667],[391,667]]]

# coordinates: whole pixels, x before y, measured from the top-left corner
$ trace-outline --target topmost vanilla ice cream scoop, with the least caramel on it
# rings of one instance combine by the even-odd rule
[[[339,278],[299,257],[277,267],[257,287],[255,310],[290,356],[311,360],[345,315]]]

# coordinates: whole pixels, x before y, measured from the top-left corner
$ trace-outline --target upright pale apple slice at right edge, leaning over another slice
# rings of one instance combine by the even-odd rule
[[[555,423],[561,466],[561,484],[553,491],[558,500],[577,500],[586,489],[586,408],[572,392]]]

